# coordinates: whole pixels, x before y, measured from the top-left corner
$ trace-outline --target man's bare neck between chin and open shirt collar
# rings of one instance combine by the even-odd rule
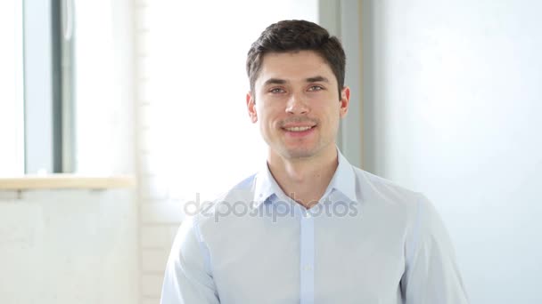
[[[307,209],[317,204],[337,169],[337,149],[322,155],[304,158],[287,158],[269,153],[269,171],[283,192]]]

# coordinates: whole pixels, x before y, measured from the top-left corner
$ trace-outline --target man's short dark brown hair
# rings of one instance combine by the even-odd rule
[[[259,76],[267,52],[314,51],[332,68],[339,86],[339,98],[344,86],[346,55],[336,36],[316,23],[306,20],[282,20],[267,27],[251,46],[247,55],[247,74],[250,91]]]

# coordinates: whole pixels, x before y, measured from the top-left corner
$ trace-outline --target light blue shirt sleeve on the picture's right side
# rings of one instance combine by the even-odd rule
[[[468,303],[448,232],[425,196],[419,200],[412,237],[406,246],[401,292],[406,304]]]

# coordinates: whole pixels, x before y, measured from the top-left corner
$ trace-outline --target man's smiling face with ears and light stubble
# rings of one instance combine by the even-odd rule
[[[271,153],[320,156],[335,148],[348,111],[349,88],[341,90],[341,99],[337,92],[332,69],[316,52],[272,52],[264,56],[247,106]]]

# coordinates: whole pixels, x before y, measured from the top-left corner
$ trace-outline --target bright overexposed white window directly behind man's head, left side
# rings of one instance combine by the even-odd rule
[[[317,7],[281,0],[139,8],[140,154],[151,199],[210,200],[265,164],[246,111],[246,54],[269,24],[317,21]]]

